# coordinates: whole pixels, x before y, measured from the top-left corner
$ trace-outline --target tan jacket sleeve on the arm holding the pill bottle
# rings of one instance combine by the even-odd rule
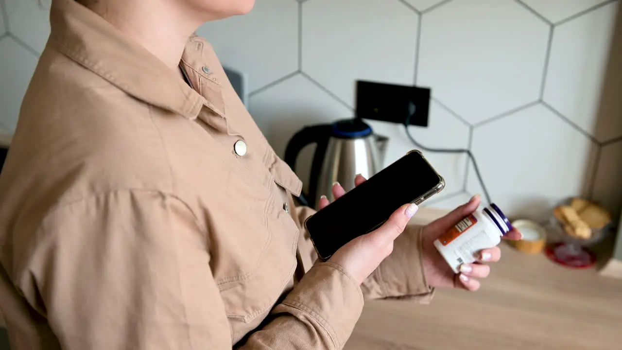
[[[297,207],[292,214],[302,229],[301,232],[304,232],[304,241],[299,243],[303,263],[305,257],[310,257],[313,261],[317,259],[309,232],[303,226],[304,221],[314,213],[315,210],[309,207]],[[391,255],[361,285],[366,299],[399,298],[424,304],[432,300],[434,288],[427,284],[424,273],[422,229],[420,225],[408,225],[397,237]]]

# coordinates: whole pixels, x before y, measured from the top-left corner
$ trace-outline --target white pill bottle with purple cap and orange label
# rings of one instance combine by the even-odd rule
[[[434,241],[440,255],[458,273],[460,265],[478,260],[482,249],[501,243],[501,237],[512,230],[506,215],[495,204],[476,210]]]

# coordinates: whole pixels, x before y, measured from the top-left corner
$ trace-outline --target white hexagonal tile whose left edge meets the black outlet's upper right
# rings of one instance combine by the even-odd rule
[[[470,123],[534,102],[548,33],[514,1],[448,2],[422,16],[417,85]]]

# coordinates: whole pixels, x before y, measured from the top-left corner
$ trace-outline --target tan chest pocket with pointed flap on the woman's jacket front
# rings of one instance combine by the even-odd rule
[[[302,182],[275,154],[271,158],[266,162],[272,177],[265,211],[268,242],[252,272],[219,283],[227,316],[233,323],[256,323],[258,316],[266,315],[292,281],[297,265],[299,229],[289,213],[293,208],[287,199],[291,193],[300,193]]]

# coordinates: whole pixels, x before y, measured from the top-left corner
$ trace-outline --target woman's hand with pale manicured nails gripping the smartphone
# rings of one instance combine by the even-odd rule
[[[362,176],[358,176],[355,183],[358,186],[364,180]],[[333,194],[335,198],[338,198],[343,196],[345,191],[343,187],[335,185]],[[328,204],[328,199],[325,197],[320,199],[320,210]],[[340,265],[359,284],[363,283],[378,268],[384,258],[391,254],[393,241],[406,229],[406,224],[415,215],[417,209],[416,204],[405,204],[399,207],[381,227],[351,240],[339,248],[328,261]]]

